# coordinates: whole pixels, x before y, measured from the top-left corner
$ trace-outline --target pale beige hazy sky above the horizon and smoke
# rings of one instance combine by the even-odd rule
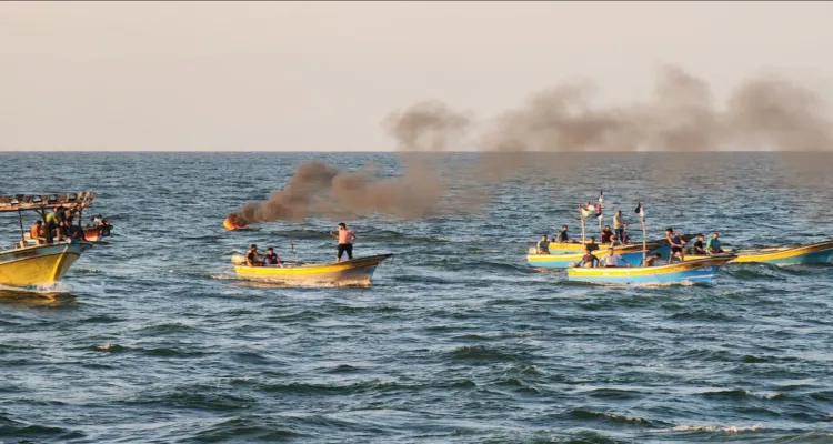
[[[832,2],[0,2],[0,150],[385,151],[436,99],[489,117],[564,80],[830,89]]]

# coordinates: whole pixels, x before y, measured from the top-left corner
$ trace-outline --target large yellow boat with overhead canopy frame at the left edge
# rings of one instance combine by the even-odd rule
[[[60,281],[72,263],[92,245],[76,239],[40,244],[27,242],[23,212],[32,211],[44,218],[49,209],[74,208],[79,210],[80,220],[80,210],[88,206],[94,195],[87,192],[64,195],[0,195],[0,212],[18,213],[21,239],[17,245],[0,251],[0,284],[28,287]]]

